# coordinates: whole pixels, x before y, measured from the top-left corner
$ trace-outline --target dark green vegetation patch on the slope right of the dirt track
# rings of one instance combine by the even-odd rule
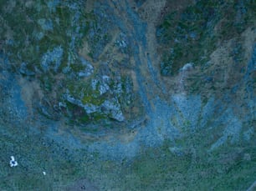
[[[255,24],[255,1],[200,0],[166,15],[156,36],[163,48],[161,74],[174,75],[185,63],[207,62],[218,42]]]

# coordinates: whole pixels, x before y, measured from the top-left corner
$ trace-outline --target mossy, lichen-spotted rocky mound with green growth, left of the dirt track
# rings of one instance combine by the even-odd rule
[[[104,70],[97,65],[110,43],[113,25],[99,10],[86,12],[86,3],[81,1],[15,1],[10,10],[5,6],[8,4],[1,7],[2,48],[17,72],[39,79],[44,97],[49,100],[44,104],[34,98],[40,103],[39,113],[48,118],[63,113],[72,120],[81,118],[78,121],[84,123],[101,117],[117,119],[117,115],[118,121],[125,119],[121,105],[127,110],[131,103],[131,84],[105,74],[109,66]],[[80,53],[84,44],[89,46],[87,55]],[[83,112],[79,112],[81,108]]]

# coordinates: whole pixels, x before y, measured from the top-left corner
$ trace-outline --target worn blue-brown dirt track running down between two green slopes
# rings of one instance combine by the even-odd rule
[[[136,85],[140,89],[139,93],[147,115],[152,113],[152,100],[161,97],[166,91],[158,69],[160,58],[156,53],[155,37],[156,20],[165,4],[165,0],[148,1],[144,8],[148,11],[139,15],[131,1],[110,1],[116,16],[122,21],[120,29],[127,34],[132,47],[130,61],[135,66]]]

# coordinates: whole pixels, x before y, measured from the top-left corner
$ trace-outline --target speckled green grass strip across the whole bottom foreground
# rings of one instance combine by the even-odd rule
[[[136,158],[120,162],[59,144],[61,139],[44,138],[46,129],[42,127],[41,133],[33,136],[28,136],[27,128],[18,127],[1,134],[0,188],[64,190],[69,183],[90,178],[99,188],[120,190],[246,190],[255,181],[255,136],[209,152],[216,129],[201,129],[176,143],[141,148]],[[174,144],[181,147],[180,153],[172,152]],[[18,167],[8,166],[11,155],[18,160]]]

